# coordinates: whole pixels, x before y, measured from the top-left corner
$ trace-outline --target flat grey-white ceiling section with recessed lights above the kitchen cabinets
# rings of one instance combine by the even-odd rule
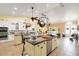
[[[0,3],[0,16],[31,16],[31,7],[34,7],[34,15],[37,16],[56,5],[57,3]]]

